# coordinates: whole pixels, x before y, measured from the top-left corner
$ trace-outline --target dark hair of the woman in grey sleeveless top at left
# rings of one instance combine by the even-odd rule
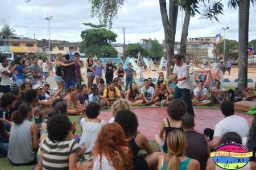
[[[22,103],[19,105],[18,111],[15,111],[12,115],[13,122],[18,125],[21,124],[23,119],[27,117],[28,111],[32,111],[30,103]]]

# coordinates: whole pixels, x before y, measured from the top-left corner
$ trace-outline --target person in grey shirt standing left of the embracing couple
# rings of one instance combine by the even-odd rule
[[[38,57],[34,56],[32,60],[33,60],[33,64],[31,64],[30,66],[31,74],[34,77],[34,79],[32,79],[33,80],[32,86],[36,84],[42,85],[42,79],[41,79],[42,74],[40,73],[40,67],[38,65]]]

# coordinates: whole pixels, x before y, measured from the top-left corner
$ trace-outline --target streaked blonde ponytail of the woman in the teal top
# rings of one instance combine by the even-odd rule
[[[187,140],[184,133],[180,130],[172,130],[167,136],[167,146],[168,154],[171,155],[167,169],[179,170],[180,160],[178,156],[182,156],[187,147]]]

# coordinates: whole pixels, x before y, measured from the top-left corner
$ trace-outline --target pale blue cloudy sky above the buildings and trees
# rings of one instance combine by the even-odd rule
[[[188,38],[202,36],[224,35],[222,27],[226,30],[226,39],[238,40],[238,9],[229,9],[224,0],[224,15],[220,15],[217,22],[201,20],[197,14],[191,18]],[[53,16],[50,21],[52,40],[67,40],[80,42],[81,31],[89,29],[82,23],[98,24],[97,18],[90,17],[90,4],[87,0],[8,0],[1,2],[0,27],[9,24],[16,31],[16,35],[35,39],[48,39],[48,20],[45,15]],[[177,19],[176,42],[180,42],[182,20],[184,12],[179,11]],[[117,19],[113,21],[112,31],[118,35],[117,43],[123,43],[123,30],[125,28],[125,43],[138,43],[141,39],[164,39],[163,24],[160,15],[158,0],[127,0],[119,10]],[[250,7],[249,41],[256,39],[256,6]]]

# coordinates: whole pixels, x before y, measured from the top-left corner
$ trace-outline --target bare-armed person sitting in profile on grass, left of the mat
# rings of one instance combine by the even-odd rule
[[[75,86],[71,86],[68,89],[69,94],[63,98],[68,103],[68,115],[82,115],[84,113],[85,107],[77,105],[77,92],[77,88]]]

